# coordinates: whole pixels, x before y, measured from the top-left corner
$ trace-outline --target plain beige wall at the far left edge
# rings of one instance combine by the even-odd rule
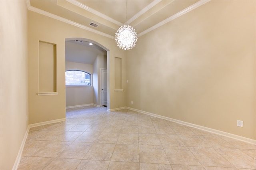
[[[28,127],[27,7],[18,0],[0,4],[0,169],[10,170]]]

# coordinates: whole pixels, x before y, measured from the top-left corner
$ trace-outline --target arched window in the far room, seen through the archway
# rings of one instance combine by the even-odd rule
[[[80,70],[67,70],[66,85],[91,85],[91,74]]]

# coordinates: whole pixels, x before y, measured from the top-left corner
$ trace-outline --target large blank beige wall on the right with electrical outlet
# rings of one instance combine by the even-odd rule
[[[127,106],[255,140],[255,3],[210,1],[139,37]]]

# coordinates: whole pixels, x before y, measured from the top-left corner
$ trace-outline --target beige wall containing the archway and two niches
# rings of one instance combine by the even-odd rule
[[[124,57],[125,51],[116,46],[114,39],[106,38],[84,29],[28,11],[28,85],[29,123],[39,123],[65,118],[65,39],[86,38],[98,42],[108,51],[109,108],[126,106],[126,91],[114,92],[114,57]],[[56,44],[58,95],[38,96],[38,42]],[[125,59],[123,60],[125,62]],[[124,79],[126,72],[124,71]]]

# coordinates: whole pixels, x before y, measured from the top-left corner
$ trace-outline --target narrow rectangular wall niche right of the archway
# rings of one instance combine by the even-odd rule
[[[122,58],[115,57],[115,90],[122,89]]]

